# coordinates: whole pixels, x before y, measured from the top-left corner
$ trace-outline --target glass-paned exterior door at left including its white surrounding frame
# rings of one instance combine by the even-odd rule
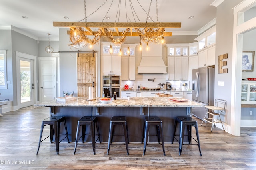
[[[16,52],[18,108],[34,105],[36,99],[36,56]]]

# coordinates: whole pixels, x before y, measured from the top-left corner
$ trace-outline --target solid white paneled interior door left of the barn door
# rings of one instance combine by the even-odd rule
[[[40,102],[50,101],[56,98],[56,58],[39,58],[40,66]]]

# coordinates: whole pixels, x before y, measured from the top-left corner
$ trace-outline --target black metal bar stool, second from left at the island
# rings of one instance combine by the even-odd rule
[[[92,150],[94,152],[95,155],[95,143],[97,142],[97,140],[95,141],[95,123],[96,123],[96,128],[97,128],[97,133],[98,133],[98,138],[100,141],[100,132],[99,132],[99,124],[98,124],[98,118],[96,116],[84,116],[81,119],[78,120],[77,122],[77,130],[76,130],[76,144],[75,144],[75,150],[74,150],[74,154],[76,154],[76,147],[78,144],[78,140],[80,138],[82,138],[82,142],[84,143],[84,138],[85,138],[85,130],[86,130],[86,125],[89,125],[90,127],[90,134],[91,134],[91,138],[92,138]],[[82,136],[80,138],[79,137],[79,132],[80,132],[80,126],[82,126]],[[100,141],[101,143],[101,141]]]

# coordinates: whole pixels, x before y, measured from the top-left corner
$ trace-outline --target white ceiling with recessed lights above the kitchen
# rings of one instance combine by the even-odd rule
[[[173,36],[198,35],[216,18],[216,7],[211,5],[216,1],[220,0],[158,0],[158,22],[181,22],[181,28],[166,28]],[[149,6],[150,0],[86,0],[87,22],[146,22]],[[156,0],[152,0],[149,16],[148,22],[157,22]],[[35,40],[48,40],[47,33],[50,40],[59,40],[54,21],[85,22],[84,18],[84,0],[0,0],[0,29],[12,26]]]

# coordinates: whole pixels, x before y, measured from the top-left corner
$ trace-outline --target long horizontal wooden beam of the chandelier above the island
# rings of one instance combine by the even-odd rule
[[[53,22],[54,27],[90,27],[90,28],[145,28],[143,22]],[[147,28],[181,28],[181,22],[148,22]]]

